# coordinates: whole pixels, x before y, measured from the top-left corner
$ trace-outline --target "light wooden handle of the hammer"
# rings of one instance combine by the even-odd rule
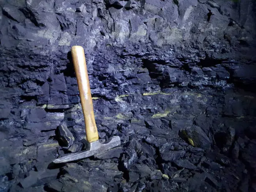
[[[92,95],[87,74],[84,49],[82,48],[82,46],[72,46],[71,54],[77,76],[77,84],[81,99],[82,110],[84,113],[86,138],[87,141],[91,143],[93,141],[97,141],[99,139],[99,135],[93,112]]]

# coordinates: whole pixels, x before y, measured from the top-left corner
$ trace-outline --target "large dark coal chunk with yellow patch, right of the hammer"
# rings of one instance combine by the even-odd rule
[[[203,149],[211,148],[210,139],[207,137],[202,128],[197,125],[192,125],[191,127],[181,129],[179,131],[179,136],[192,146]]]

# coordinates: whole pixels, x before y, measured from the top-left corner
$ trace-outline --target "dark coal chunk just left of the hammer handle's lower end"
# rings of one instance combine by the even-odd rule
[[[69,148],[74,143],[74,136],[65,123],[61,123],[56,129],[56,136],[61,146]]]

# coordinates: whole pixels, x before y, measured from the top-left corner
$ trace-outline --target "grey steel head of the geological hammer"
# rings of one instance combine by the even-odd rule
[[[86,151],[79,151],[77,153],[55,159],[53,162],[57,164],[57,163],[66,163],[69,161],[84,159],[86,157],[93,156],[95,154],[99,154],[104,151],[107,151],[110,148],[114,148],[120,145],[120,143],[121,143],[120,137],[118,136],[114,136],[110,138],[105,143],[100,143],[100,140],[93,141],[92,143],[88,143]]]

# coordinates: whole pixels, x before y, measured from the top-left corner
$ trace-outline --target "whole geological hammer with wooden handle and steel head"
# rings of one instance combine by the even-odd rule
[[[121,143],[120,137],[118,136],[109,138],[105,143],[100,142],[93,112],[92,95],[90,90],[89,77],[87,74],[84,49],[82,46],[72,46],[71,54],[84,114],[86,140],[88,144],[85,151],[79,151],[77,153],[55,159],[53,161],[54,163],[66,163],[69,161],[84,159],[95,154],[100,154],[110,148],[114,148]]]

